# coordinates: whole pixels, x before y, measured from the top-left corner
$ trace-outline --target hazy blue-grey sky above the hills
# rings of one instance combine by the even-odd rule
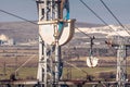
[[[107,24],[118,24],[100,0],[82,0]],[[122,24],[130,24],[130,0],[103,0]],[[77,22],[103,24],[80,0],[69,0],[70,18]],[[29,21],[38,21],[35,0],[0,0],[0,10],[13,13]],[[0,12],[0,22],[22,21]]]

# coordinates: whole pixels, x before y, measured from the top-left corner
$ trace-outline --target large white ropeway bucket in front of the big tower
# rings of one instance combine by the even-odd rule
[[[75,33],[75,20],[64,21],[64,29],[60,34],[58,45],[67,44]],[[39,33],[44,42],[55,45],[54,30],[58,28],[58,21],[39,22]]]

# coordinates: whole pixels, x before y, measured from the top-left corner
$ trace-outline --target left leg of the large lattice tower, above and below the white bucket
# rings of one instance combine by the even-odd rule
[[[48,21],[48,9],[49,3],[48,0],[37,0],[38,7],[38,14],[39,14],[39,22],[40,21]],[[38,73],[37,78],[39,83],[44,83],[40,85],[41,87],[48,87],[48,59],[47,55],[47,44],[42,40],[41,36],[39,35],[39,64],[38,64]]]

